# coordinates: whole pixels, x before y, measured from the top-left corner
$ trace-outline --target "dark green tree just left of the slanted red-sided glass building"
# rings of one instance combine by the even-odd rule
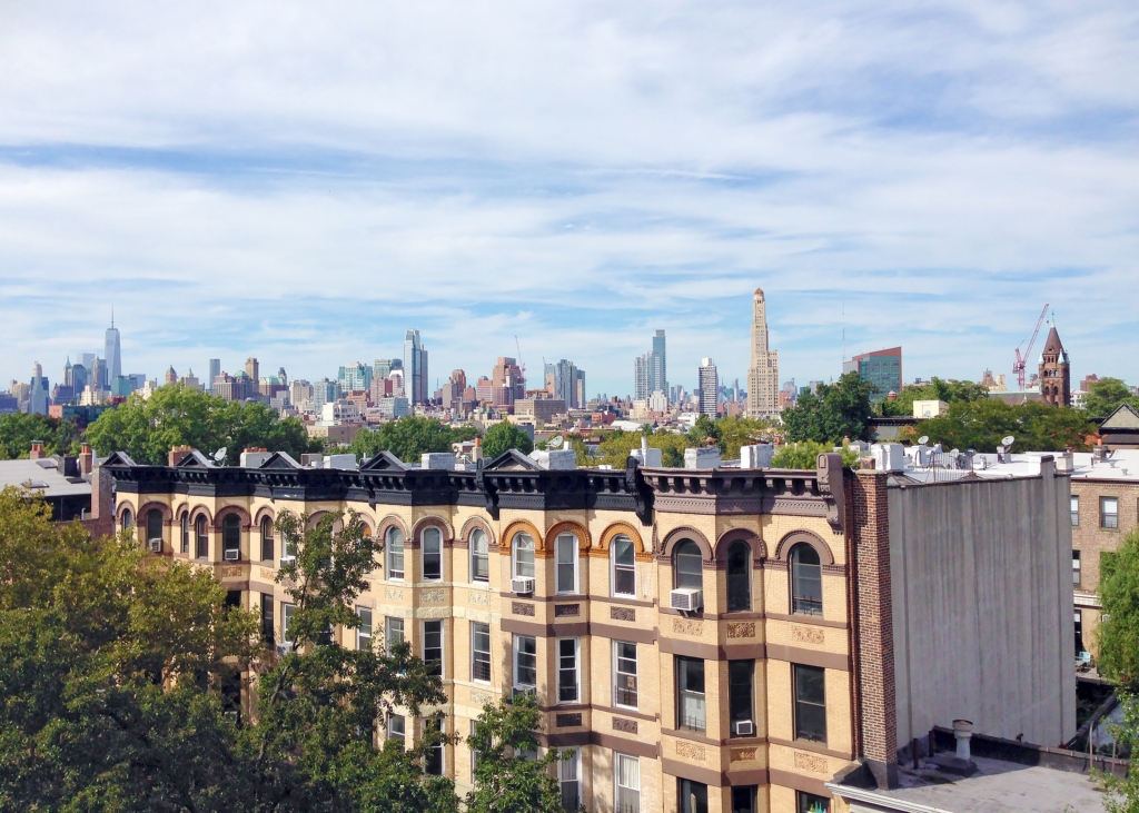
[[[858,372],[847,372],[835,384],[820,384],[818,393],[800,395],[794,406],[782,411],[787,440],[831,445],[844,437],[870,440],[870,396],[876,392]]]

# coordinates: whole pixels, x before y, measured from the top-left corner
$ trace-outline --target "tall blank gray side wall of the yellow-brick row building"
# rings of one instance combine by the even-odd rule
[[[1070,481],[891,487],[898,745],[954,718],[1043,746],[1075,734]]]

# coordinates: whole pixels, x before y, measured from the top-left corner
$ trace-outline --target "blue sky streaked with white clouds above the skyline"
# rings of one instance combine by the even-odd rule
[[[800,8],[800,7],[803,8]],[[568,358],[625,394],[902,345],[1009,372],[1043,304],[1139,384],[1134,2],[0,7],[0,381],[432,378]],[[532,381],[538,380],[532,377]]]

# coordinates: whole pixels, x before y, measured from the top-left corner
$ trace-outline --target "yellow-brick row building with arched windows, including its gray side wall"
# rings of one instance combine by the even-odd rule
[[[892,787],[900,747],[954,718],[1049,746],[1074,733],[1068,478],[1050,460],[913,484],[837,454],[805,471],[542,459],[106,468],[120,527],[212,568],[277,644],[273,519],[359,511],[386,550],[364,626],[338,643],[402,638],[439,662],[460,738],[484,704],[534,691],[543,747],[574,749],[557,769],[567,806],[846,810],[827,782],[857,770]],[[393,715],[376,737],[418,726]],[[429,765],[460,793],[470,767],[464,741]]]

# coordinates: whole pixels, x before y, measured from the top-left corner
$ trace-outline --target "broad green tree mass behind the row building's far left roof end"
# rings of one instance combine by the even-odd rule
[[[226,446],[230,466],[251,446],[288,452],[297,460],[323,447],[296,418],[278,418],[265,404],[226,401],[181,384],[159,387],[149,399],[132,394],[118,409],[99,416],[88,427],[87,440],[100,454],[123,451],[150,466],[164,466],[167,452],[181,445],[206,454]]]

